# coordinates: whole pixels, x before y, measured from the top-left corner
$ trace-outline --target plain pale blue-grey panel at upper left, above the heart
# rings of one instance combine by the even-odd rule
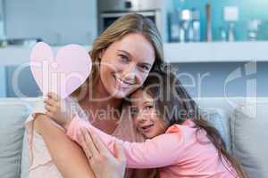
[[[42,37],[49,44],[91,44],[96,0],[6,0],[7,37]]]

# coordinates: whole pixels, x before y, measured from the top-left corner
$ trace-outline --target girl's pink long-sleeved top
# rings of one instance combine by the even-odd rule
[[[80,128],[85,127],[99,135],[112,153],[114,142],[121,142],[127,158],[127,167],[159,167],[162,178],[238,177],[228,161],[224,158],[221,161],[206,133],[201,131],[196,134],[197,128],[194,125],[194,122],[188,119],[182,125],[172,125],[165,134],[146,142],[124,142],[76,116],[66,134],[81,144]]]

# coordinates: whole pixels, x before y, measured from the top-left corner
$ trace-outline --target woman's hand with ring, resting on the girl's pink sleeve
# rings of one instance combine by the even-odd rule
[[[98,178],[123,178],[126,168],[126,157],[123,147],[114,143],[114,156],[94,132],[81,129],[82,147],[94,174]]]

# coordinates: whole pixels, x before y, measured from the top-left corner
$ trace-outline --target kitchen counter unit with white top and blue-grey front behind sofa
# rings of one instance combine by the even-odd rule
[[[267,45],[268,42],[172,43],[163,44],[163,48],[165,61],[172,62],[172,67],[178,69],[182,83],[188,86],[187,89],[193,96],[223,96],[226,78],[232,75],[236,69],[246,68],[247,61],[257,61],[257,73],[251,77],[245,76],[247,74],[245,73],[244,76],[231,81],[227,89],[229,94],[231,96],[247,94],[247,79],[250,82],[251,79],[256,78],[257,94],[267,96]],[[52,46],[54,52],[59,47]],[[88,51],[91,48],[88,45],[85,47]],[[0,68],[0,90],[2,89],[0,96],[3,96],[4,93],[9,97],[14,96],[14,85],[12,84],[14,71],[27,65],[30,51],[29,46],[0,48],[0,67],[2,66]],[[255,63],[253,62],[252,65],[254,66]],[[4,66],[6,66],[5,69]],[[200,80],[202,85],[198,85]],[[25,81],[27,81],[27,85],[25,85]],[[29,68],[23,68],[18,85],[21,93],[27,96],[40,94]]]

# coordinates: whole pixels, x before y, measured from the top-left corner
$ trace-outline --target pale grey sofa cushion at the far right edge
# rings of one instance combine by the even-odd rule
[[[249,177],[268,175],[268,101],[249,101],[230,120],[233,155]]]

